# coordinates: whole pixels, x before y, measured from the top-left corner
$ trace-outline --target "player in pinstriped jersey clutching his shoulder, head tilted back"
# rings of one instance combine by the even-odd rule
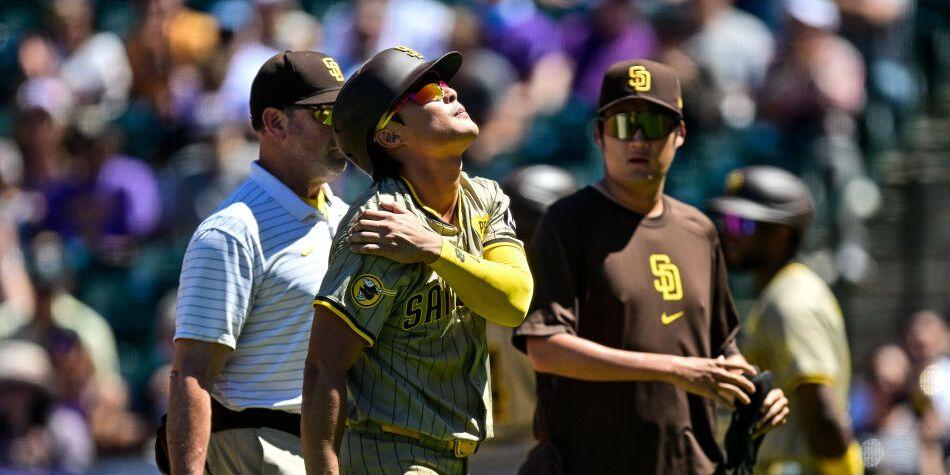
[[[334,105],[340,147],[374,183],[344,218],[315,299],[311,473],[461,474],[492,436],[485,324],[520,324],[533,283],[508,197],[461,172],[478,134],[445,83],[461,62],[384,50]]]

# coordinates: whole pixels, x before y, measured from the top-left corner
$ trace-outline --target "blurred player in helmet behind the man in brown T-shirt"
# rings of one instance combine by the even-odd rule
[[[861,450],[851,432],[851,351],[838,301],[795,260],[811,222],[808,188],[775,167],[733,170],[713,199],[726,261],[754,273],[758,300],[743,325],[749,361],[772,372],[792,401],[788,425],[766,438],[757,471],[857,474]]]

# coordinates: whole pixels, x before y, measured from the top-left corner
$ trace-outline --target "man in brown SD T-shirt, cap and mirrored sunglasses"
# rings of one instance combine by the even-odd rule
[[[538,372],[540,443],[523,473],[715,473],[713,402],[750,402],[716,229],[663,193],[686,135],[681,97],[665,65],[612,65],[595,136],[604,177],[535,231],[537,288],[514,340]],[[770,392],[760,426],[783,423],[787,403]]]

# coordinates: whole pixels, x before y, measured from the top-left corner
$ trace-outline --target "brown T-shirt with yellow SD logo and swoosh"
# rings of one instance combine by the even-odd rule
[[[555,203],[528,253],[535,278],[526,336],[570,333],[613,348],[715,357],[738,317],[713,224],[664,197],[644,218],[592,187]],[[535,430],[565,473],[712,473],[722,462],[713,404],[661,382],[538,375]]]

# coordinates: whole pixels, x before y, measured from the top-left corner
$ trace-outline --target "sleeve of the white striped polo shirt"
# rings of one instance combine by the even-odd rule
[[[254,259],[247,247],[221,230],[199,230],[182,263],[175,339],[220,343],[234,349],[253,288]]]

